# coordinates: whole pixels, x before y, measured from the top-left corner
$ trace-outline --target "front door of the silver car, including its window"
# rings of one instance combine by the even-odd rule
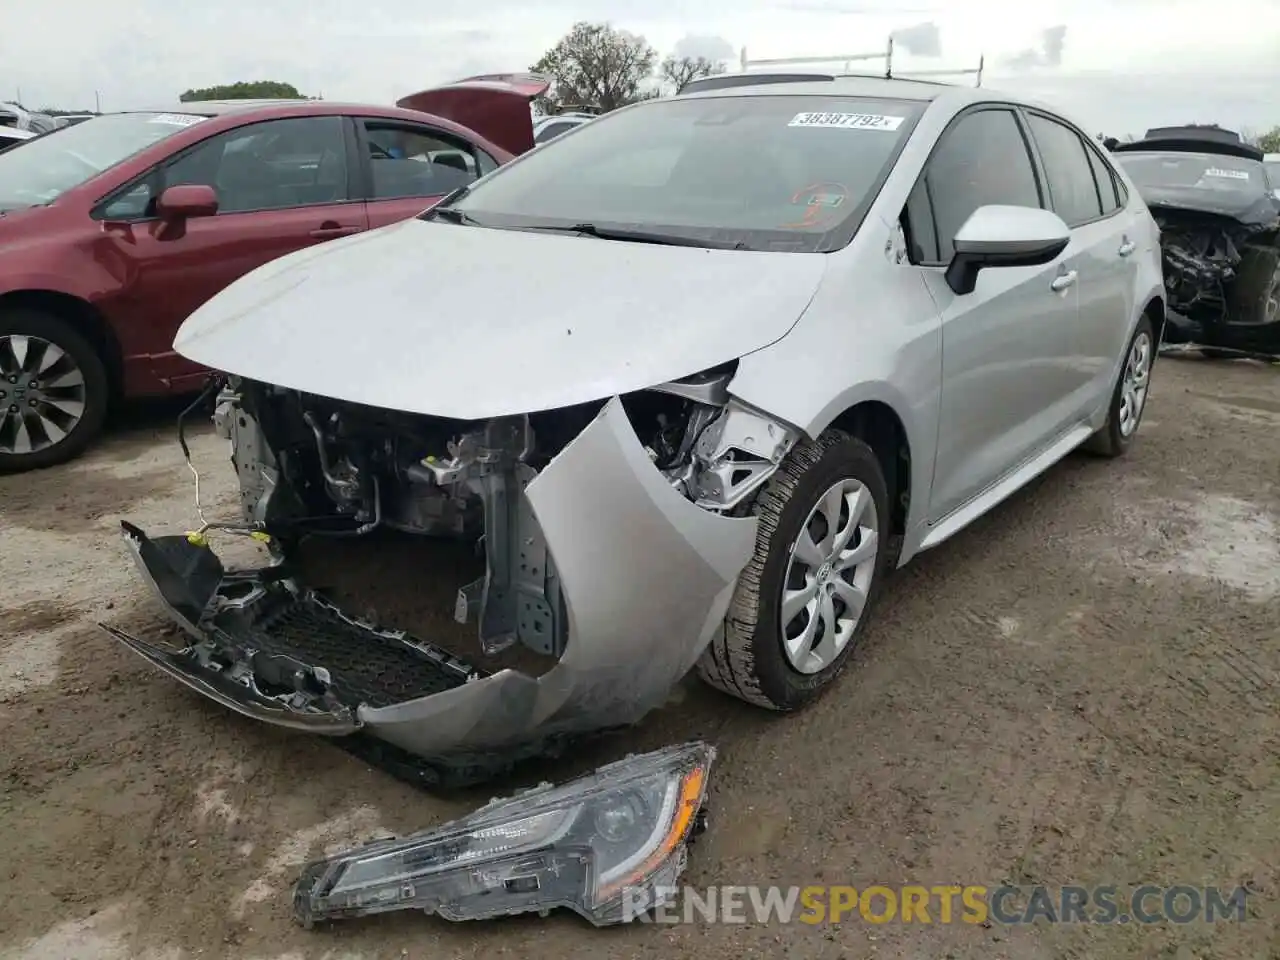
[[[1043,207],[1024,124],[983,105],[943,132],[908,204],[913,259],[942,315],[942,389],[929,521],[942,520],[1046,448],[1070,420],[1065,370],[1076,288],[1059,257],[983,270],[956,294],[945,268],[980,206]]]

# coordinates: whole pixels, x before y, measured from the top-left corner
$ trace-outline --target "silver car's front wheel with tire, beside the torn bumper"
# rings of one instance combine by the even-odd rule
[[[892,554],[888,486],[870,447],[828,430],[796,444],[751,511],[755,554],[698,672],[795,710],[831,686],[867,628]]]

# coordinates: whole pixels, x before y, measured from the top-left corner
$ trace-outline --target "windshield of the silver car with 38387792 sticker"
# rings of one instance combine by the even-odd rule
[[[920,109],[835,96],[655,100],[582,124],[452,206],[485,227],[591,224],[829,251],[852,237]]]

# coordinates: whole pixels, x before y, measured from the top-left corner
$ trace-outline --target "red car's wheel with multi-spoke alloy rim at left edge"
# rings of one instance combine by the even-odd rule
[[[78,457],[102,433],[110,402],[93,346],[61,317],[27,308],[0,314],[0,474]]]

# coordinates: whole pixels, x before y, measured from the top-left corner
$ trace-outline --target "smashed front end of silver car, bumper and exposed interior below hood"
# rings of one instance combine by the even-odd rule
[[[221,380],[214,420],[242,518],[154,539],[124,524],[186,645],[110,632],[230,709],[339,737],[413,780],[486,778],[631,724],[721,628],[755,547],[746,504],[796,439],[732,401],[732,375],[486,421]],[[215,532],[261,541],[270,562],[228,570]],[[452,613],[479,649],[352,614],[307,584],[308,543],[378,536],[474,547],[483,572],[456,584]],[[454,570],[412,576],[435,586]],[[520,669],[476,666],[512,654]]]

